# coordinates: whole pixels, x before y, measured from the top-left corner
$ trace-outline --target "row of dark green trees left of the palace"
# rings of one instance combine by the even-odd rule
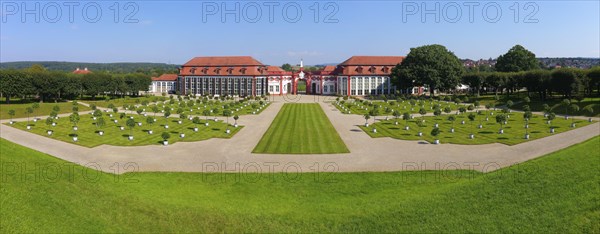
[[[0,70],[0,94],[10,103],[13,97],[39,98],[41,102],[75,99],[89,95],[138,96],[148,90],[152,80],[141,73],[109,74],[93,72],[85,75],[47,71],[40,66],[29,69]]]

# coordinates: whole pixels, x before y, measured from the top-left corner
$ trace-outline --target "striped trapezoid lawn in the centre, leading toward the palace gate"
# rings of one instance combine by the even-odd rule
[[[316,103],[286,103],[253,153],[336,154],[350,151]]]

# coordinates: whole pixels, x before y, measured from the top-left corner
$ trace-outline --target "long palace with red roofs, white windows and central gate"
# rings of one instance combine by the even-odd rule
[[[394,94],[390,74],[403,60],[402,56],[353,56],[337,66],[305,72],[303,61],[298,70],[285,71],[250,56],[196,57],[180,68],[176,88],[182,95],[287,95],[301,93],[298,88],[303,83],[303,92],[314,95]],[[420,94],[422,88],[405,92]]]

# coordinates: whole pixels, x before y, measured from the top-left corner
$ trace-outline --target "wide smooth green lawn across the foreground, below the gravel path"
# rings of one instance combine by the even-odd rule
[[[243,173],[221,181],[222,174],[106,174],[0,139],[0,230],[598,233],[598,148],[595,137],[486,174]]]

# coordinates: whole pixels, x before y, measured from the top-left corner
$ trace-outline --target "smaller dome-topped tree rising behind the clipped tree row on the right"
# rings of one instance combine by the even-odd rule
[[[495,67],[500,72],[520,72],[538,69],[540,66],[534,53],[521,45],[515,45],[498,57]]]

